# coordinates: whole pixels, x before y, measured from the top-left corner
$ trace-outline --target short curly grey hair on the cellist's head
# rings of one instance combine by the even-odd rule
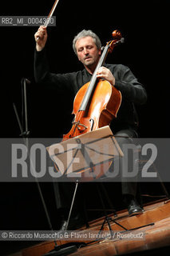
[[[97,36],[97,34],[93,33],[92,30],[82,30],[80,33],[78,33],[75,38],[73,38],[73,51],[77,55],[77,50],[76,50],[76,42],[80,38],[85,38],[85,37],[91,37],[94,40],[94,43],[97,46],[97,49],[101,49],[101,40]]]

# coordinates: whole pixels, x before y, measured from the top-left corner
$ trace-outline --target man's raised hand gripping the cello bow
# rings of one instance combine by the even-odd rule
[[[45,26],[40,26],[38,31],[34,34],[36,42],[36,50],[41,51],[45,47],[47,40],[47,32]]]

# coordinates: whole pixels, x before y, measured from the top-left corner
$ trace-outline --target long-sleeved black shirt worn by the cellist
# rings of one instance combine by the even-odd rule
[[[137,81],[136,77],[128,66],[121,64],[105,64],[115,78],[115,87],[121,91],[122,102],[117,118],[113,119],[110,127],[113,133],[122,129],[135,129],[137,127],[137,115],[134,104],[144,104],[147,99],[144,86]],[[45,49],[34,56],[34,76],[38,83],[45,83],[55,86],[58,91],[65,91],[70,95],[77,94],[77,91],[86,82],[89,82],[92,75],[87,70],[67,74],[52,74],[49,71],[49,64],[46,58]]]

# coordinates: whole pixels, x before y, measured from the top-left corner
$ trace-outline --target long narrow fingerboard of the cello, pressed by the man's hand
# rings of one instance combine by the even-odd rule
[[[97,70],[101,66],[103,66],[103,64],[105,62],[105,58],[107,57],[108,52],[109,52],[109,45],[106,45],[105,49],[103,50],[103,52],[101,54],[101,58],[99,59],[99,62],[97,63],[97,67],[96,67],[96,69],[93,72],[93,76],[92,76],[92,78],[90,80],[88,90],[85,93],[85,96],[83,98],[83,101],[81,103],[81,107],[80,107],[79,111],[85,111],[86,107],[88,106],[89,99],[90,99],[90,97],[91,97],[91,95],[93,93],[93,89],[94,89],[94,87],[96,85],[96,82],[97,82]]]

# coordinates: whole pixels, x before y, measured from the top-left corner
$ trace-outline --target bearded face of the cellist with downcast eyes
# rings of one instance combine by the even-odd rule
[[[76,42],[77,57],[79,61],[87,67],[96,67],[97,62],[101,55],[101,50],[97,49],[97,46],[90,36],[80,38]]]

